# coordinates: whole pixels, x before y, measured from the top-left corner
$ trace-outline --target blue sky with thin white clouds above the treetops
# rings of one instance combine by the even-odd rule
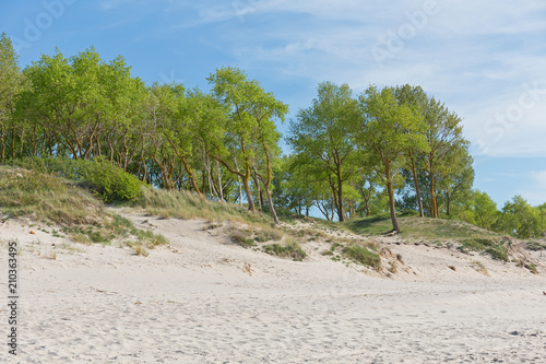
[[[206,90],[239,66],[295,115],[319,82],[420,85],[463,118],[475,188],[546,202],[546,2],[44,0],[0,2],[21,67],[95,46],[146,83]],[[280,126],[286,132],[286,126]]]

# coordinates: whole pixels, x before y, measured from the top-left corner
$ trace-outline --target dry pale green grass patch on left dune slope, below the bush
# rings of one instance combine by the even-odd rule
[[[61,233],[54,230],[54,236],[75,243],[109,245],[129,238],[130,244],[150,249],[168,244],[162,235],[138,230],[127,219],[108,213],[91,192],[55,174],[1,166],[0,207],[8,218],[58,225]]]

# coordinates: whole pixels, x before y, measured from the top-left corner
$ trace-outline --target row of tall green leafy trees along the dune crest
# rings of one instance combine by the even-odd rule
[[[206,80],[210,91],[146,85],[122,57],[92,47],[59,50],[21,70],[0,36],[0,161],[63,156],[110,161],[167,190],[223,202],[275,207],[328,220],[396,212],[480,223],[468,200],[474,171],[461,118],[420,86],[354,95],[320,83],[311,106],[289,121],[288,106],[237,67]]]

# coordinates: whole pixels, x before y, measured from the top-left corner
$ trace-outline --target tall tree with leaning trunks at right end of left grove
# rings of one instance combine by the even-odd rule
[[[221,68],[207,80],[213,85],[215,98],[226,110],[224,138],[210,141],[209,155],[241,178],[250,211],[256,208],[249,180],[251,173],[257,173],[268,195],[273,219],[278,223],[271,197],[272,160],[280,139],[274,120],[284,121],[288,106],[266,93],[258,81],[248,80],[238,68]],[[265,161],[263,174],[254,169],[254,162],[260,157]]]

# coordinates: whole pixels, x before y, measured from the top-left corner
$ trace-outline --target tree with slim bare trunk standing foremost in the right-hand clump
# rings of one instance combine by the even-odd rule
[[[356,130],[361,149],[373,153],[382,164],[382,179],[389,195],[389,208],[393,231],[400,232],[396,221],[393,172],[403,162],[408,149],[427,151],[419,109],[400,103],[394,90],[369,86],[359,96],[363,110],[361,125]]]

